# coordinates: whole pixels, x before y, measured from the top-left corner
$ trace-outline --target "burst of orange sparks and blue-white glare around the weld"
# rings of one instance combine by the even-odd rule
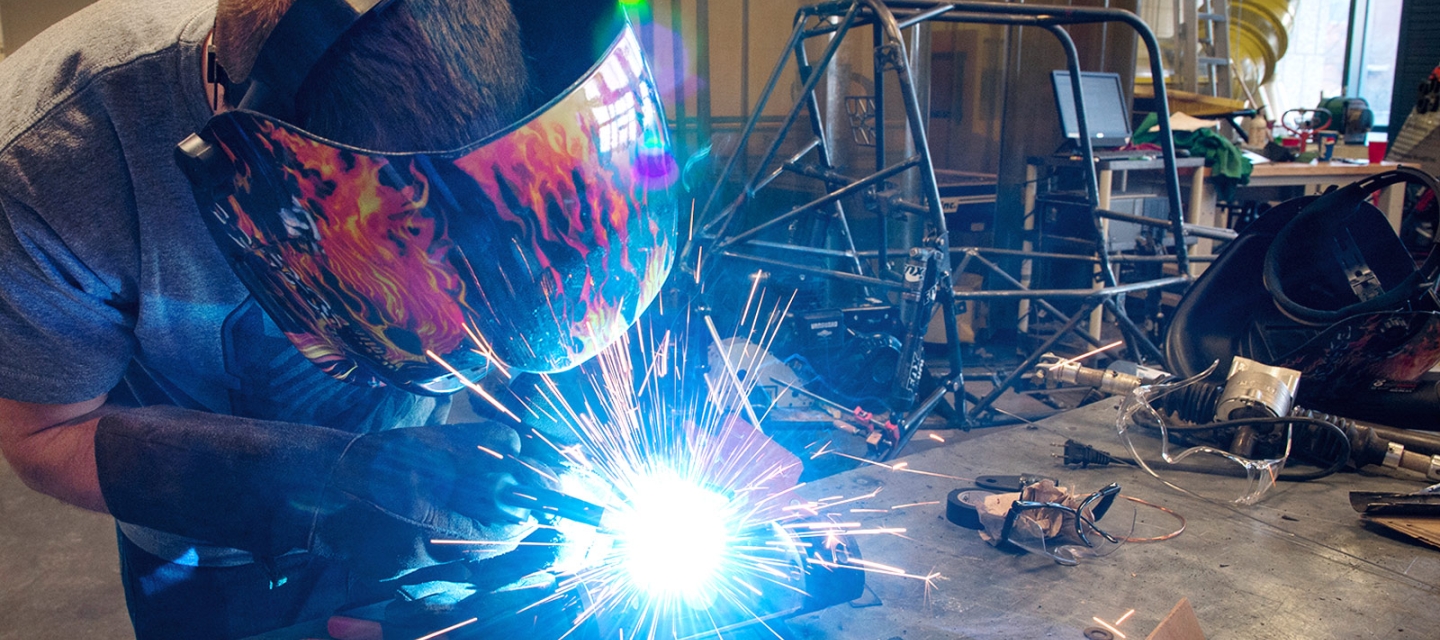
[[[744,626],[770,628],[773,620],[801,610],[806,579],[816,575],[919,579],[927,590],[942,578],[851,555],[857,536],[903,536],[906,529],[825,519],[824,513],[874,499],[880,490],[818,500],[796,496],[801,461],[757,428],[763,414],[752,408],[750,394],[759,376],[742,372],[755,370],[768,353],[791,301],[793,295],[778,300],[759,285],[752,288],[742,313],[752,324],[733,334],[757,349],[727,349],[713,319],[677,308],[672,314],[683,326],[641,323],[582,365],[576,378],[583,382],[539,376],[539,394],[524,401],[503,402],[429,353],[501,414],[557,427],[533,435],[564,461],[564,470],[547,474],[523,464],[556,481],[562,493],[605,507],[599,528],[559,520],[554,529],[562,542],[521,543],[557,546],[559,552],[552,569],[559,574],[556,591],[524,610],[577,601],[572,633],[593,624],[602,637],[687,637]],[[691,324],[701,327],[700,336],[685,334]],[[690,357],[697,337],[719,349],[723,370],[691,369],[691,362],[706,360]],[[812,457],[822,454],[850,457],[825,447]],[[907,463],[855,460],[930,474]],[[899,507],[919,505],[930,503]],[[855,506],[850,512],[888,509]]]

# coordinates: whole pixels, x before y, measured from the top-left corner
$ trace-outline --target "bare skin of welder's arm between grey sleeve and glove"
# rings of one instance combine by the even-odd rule
[[[30,489],[108,513],[95,473],[95,424],[105,398],[71,405],[0,398],[0,453]]]

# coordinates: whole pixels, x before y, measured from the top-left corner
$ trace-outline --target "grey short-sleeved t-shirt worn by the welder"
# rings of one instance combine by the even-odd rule
[[[442,418],[311,365],[210,239],[173,153],[210,117],[213,23],[215,0],[101,0],[0,62],[0,396],[347,431]]]

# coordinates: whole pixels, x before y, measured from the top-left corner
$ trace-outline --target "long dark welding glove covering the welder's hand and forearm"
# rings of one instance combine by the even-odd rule
[[[494,422],[356,435],[173,406],[115,412],[95,431],[118,520],[261,558],[311,551],[379,579],[513,549],[534,525],[500,493],[539,481],[518,450]]]

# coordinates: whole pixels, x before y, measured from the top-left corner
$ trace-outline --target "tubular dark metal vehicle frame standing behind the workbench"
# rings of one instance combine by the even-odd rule
[[[1004,271],[1001,271],[994,262],[985,261],[979,257],[979,252],[984,249],[949,246],[949,229],[946,228],[945,213],[940,209],[940,195],[935,177],[935,167],[930,161],[929,141],[926,138],[926,121],[922,114],[919,99],[916,98],[916,88],[906,56],[906,43],[901,36],[903,29],[926,20],[1035,26],[1054,35],[1063,45],[1070,69],[1076,114],[1080,123],[1080,147],[1084,159],[1087,160],[1083,163],[1086,173],[1086,193],[1089,196],[1092,218],[1094,221],[1094,238],[1097,241],[1096,246],[1099,246],[1094,259],[1103,278],[1102,288],[1037,291],[1028,290],[1028,287],[1022,285],[1020,280],[1004,275],[1002,280],[1014,285],[1014,290],[955,291],[952,278],[955,271],[950,265],[952,255],[955,254],[965,255],[962,270],[973,261],[981,261],[988,265],[992,272],[1004,274]],[[1151,68],[1153,76],[1164,78],[1159,45],[1156,43],[1153,33],[1151,33],[1149,27],[1146,27],[1145,23],[1135,14],[1116,9],[1054,7],[979,1],[936,3],[840,0],[804,7],[795,14],[795,29],[791,33],[789,43],[766,82],[765,89],[752,111],[752,118],[746,123],[740,134],[736,153],[726,163],[724,170],[719,176],[716,189],[706,199],[704,206],[697,216],[701,226],[696,231],[691,242],[687,245],[683,264],[685,268],[691,268],[694,272],[701,274],[710,271],[710,265],[717,261],[743,261],[778,271],[802,272],[834,281],[851,283],[865,287],[867,290],[897,293],[900,297],[901,319],[906,327],[906,334],[901,340],[903,352],[899,370],[896,372],[894,379],[897,382],[891,391],[890,404],[897,412],[904,411],[904,417],[897,421],[900,435],[894,447],[891,447],[886,455],[887,458],[897,454],[906,443],[909,443],[910,437],[919,428],[924,417],[945,401],[946,394],[953,392],[956,399],[955,404],[958,411],[952,414],[953,425],[968,428],[975,419],[985,415],[995,398],[1014,385],[1020,375],[1025,370],[1025,368],[1021,368],[1011,373],[1009,378],[998,385],[989,395],[979,399],[972,409],[965,411],[960,339],[956,327],[958,300],[1027,298],[1037,300],[1037,304],[1054,310],[1054,307],[1044,298],[1084,298],[1084,307],[1087,311],[1102,306],[1109,308],[1120,323],[1120,327],[1126,333],[1128,339],[1139,342],[1139,349],[1146,353],[1159,353],[1159,350],[1155,349],[1148,339],[1145,339],[1143,333],[1139,332],[1133,323],[1129,323],[1125,317],[1125,310],[1116,304],[1116,297],[1130,291],[1184,284],[1189,280],[1189,258],[1185,252],[1184,242],[1185,229],[1182,226],[1179,177],[1175,169],[1175,148],[1169,130],[1169,112],[1165,108],[1165,86],[1162,84],[1156,84],[1156,102],[1161,105],[1161,143],[1165,159],[1164,177],[1171,209],[1168,225],[1175,236],[1176,254],[1174,255],[1174,259],[1182,275],[1176,278],[1162,278],[1149,283],[1120,285],[1116,283],[1115,272],[1110,268],[1110,259],[1104,251],[1104,241],[1100,229],[1102,212],[1099,212],[1099,186],[1093,161],[1093,150],[1090,147],[1090,131],[1086,120],[1084,97],[1080,91],[1079,53],[1076,52],[1076,46],[1070,39],[1070,35],[1063,29],[1066,25],[1104,22],[1119,22],[1135,29],[1151,53]],[[832,154],[835,146],[832,140],[827,138],[824,127],[825,123],[821,120],[822,111],[819,108],[821,105],[815,89],[821,78],[825,76],[829,65],[834,62],[835,52],[845,40],[845,36],[852,29],[863,26],[870,26],[874,33],[873,78],[876,82],[876,95],[873,97],[873,104],[864,101],[848,105],[851,107],[848,111],[852,121],[858,117],[861,120],[876,123],[871,138],[876,148],[876,159],[873,173],[868,176],[852,177],[837,172]],[[828,39],[828,43],[825,45],[819,59],[812,63],[805,45],[815,37]],[[746,177],[743,183],[740,183],[737,195],[730,197],[729,202],[723,202],[726,200],[724,193],[727,192],[727,185],[730,185],[732,176],[734,174],[740,159],[746,154],[750,137],[760,124],[762,114],[766,112],[766,105],[773,98],[776,85],[792,58],[798,68],[799,78],[804,82],[799,94],[801,97],[792,105],[789,112],[780,120],[779,131],[775,140],[760,156],[759,163],[755,164],[757,169]],[[883,91],[883,82],[888,74],[893,74],[899,82],[906,123],[912,137],[910,143],[914,147],[913,156],[899,161],[890,161],[886,157],[886,94]],[[796,153],[776,161],[776,159],[780,157],[782,146],[791,135],[792,128],[801,120],[802,114],[806,115],[806,121],[809,124],[809,137],[802,138],[804,141],[798,146]],[[778,177],[785,174],[814,180],[824,187],[825,193],[804,205],[791,208],[779,215],[768,216],[762,222],[746,228],[746,213],[753,208],[756,195],[770,186]],[[901,176],[919,177],[919,186],[916,189],[910,189],[916,193],[901,193],[903,189],[897,187],[894,183]],[[851,221],[842,206],[842,200],[851,197],[861,197],[863,202],[865,202],[865,208],[877,213],[877,238],[880,238],[880,248],[877,251],[858,251],[855,248],[854,238],[851,235]],[[922,221],[924,225],[923,239],[920,242],[912,242],[907,246],[887,246],[886,223],[893,213],[916,216]],[[816,235],[809,235],[805,239],[798,239],[792,235],[791,241],[786,242],[760,239],[760,234],[768,231],[773,234],[779,225],[795,222],[801,216],[815,216],[821,219],[827,232],[824,234],[825,236],[816,238]],[[834,248],[837,245],[840,248]],[[766,255],[762,255],[762,252]],[[1043,257],[1043,254],[1028,254]],[[900,257],[906,259],[906,264],[903,272],[897,274],[890,268],[890,262],[893,258]],[[952,370],[949,376],[939,381],[939,385],[936,385],[933,391],[926,394],[924,398],[920,398],[919,386],[926,369],[923,352],[924,333],[932,316],[936,311],[942,314],[940,317],[945,323],[945,349],[949,356]],[[1067,319],[1068,321],[1066,323],[1066,330],[1074,329],[1080,316]],[[1064,316],[1057,313],[1057,317]],[[1066,333],[1066,330],[1063,330],[1061,334]],[[1025,366],[1032,366],[1034,362],[1038,362],[1040,353],[1043,353],[1045,347],[1054,345],[1054,342],[1058,340],[1058,336],[1060,334],[1048,340],[1041,350],[1032,353],[1031,357],[1027,359]]]

